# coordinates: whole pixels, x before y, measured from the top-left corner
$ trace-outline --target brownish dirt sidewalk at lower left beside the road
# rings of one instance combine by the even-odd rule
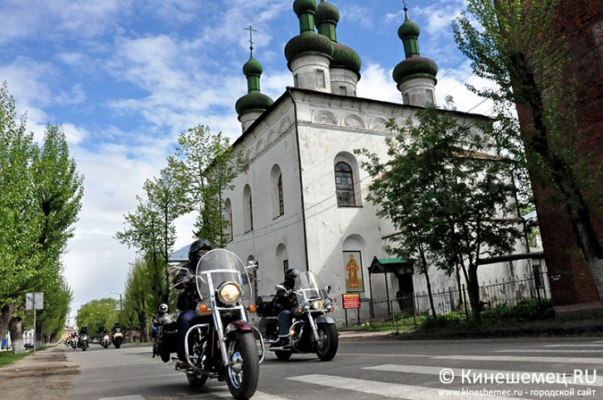
[[[67,360],[64,346],[55,346],[0,368],[0,393],[7,400],[69,398],[71,375],[80,373]]]

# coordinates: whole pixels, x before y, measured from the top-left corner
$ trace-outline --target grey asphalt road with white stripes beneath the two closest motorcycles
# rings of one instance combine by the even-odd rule
[[[603,399],[602,354],[603,338],[592,337],[346,339],[332,362],[311,354],[281,362],[269,354],[254,399]],[[68,358],[80,365],[72,400],[231,398],[217,380],[189,387],[147,346],[93,346]]]

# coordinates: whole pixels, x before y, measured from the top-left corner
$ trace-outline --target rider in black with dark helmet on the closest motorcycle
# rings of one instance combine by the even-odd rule
[[[178,316],[178,358],[182,362],[186,362],[186,354],[184,350],[184,341],[186,339],[188,329],[193,325],[197,318],[197,301],[199,295],[197,293],[197,285],[195,279],[187,279],[187,276],[194,275],[197,271],[197,264],[203,254],[212,250],[214,245],[207,239],[197,239],[188,247],[188,262],[184,265],[187,270],[181,270],[173,279],[174,287],[181,289],[178,295],[177,306],[180,310]]]

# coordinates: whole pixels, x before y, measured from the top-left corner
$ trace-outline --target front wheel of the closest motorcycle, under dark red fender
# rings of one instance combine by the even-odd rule
[[[229,365],[226,366],[226,383],[230,395],[238,400],[254,396],[260,377],[260,359],[257,355],[253,332],[235,332],[227,342]]]

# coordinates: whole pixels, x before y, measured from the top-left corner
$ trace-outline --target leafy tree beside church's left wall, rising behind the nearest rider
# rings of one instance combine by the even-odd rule
[[[214,135],[203,125],[180,133],[178,144],[168,164],[186,194],[186,204],[198,212],[195,237],[225,246],[229,222],[224,216],[222,191],[230,188],[242,168],[240,157],[233,156],[228,137],[222,132]]]

